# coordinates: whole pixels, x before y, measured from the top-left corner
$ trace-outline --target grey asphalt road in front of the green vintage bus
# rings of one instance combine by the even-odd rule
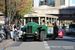
[[[15,41],[7,46],[5,50],[75,50],[75,36],[65,36],[56,40],[34,41],[28,39]]]

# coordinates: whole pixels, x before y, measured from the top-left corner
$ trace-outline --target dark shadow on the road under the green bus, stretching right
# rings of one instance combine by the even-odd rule
[[[68,41],[68,42],[75,42],[75,39],[57,38],[55,40],[45,39],[45,41]],[[18,40],[17,42],[23,42],[23,41],[22,40]],[[33,39],[27,39],[27,41],[24,41],[24,42],[42,42],[42,41],[40,41],[40,40],[34,41]]]

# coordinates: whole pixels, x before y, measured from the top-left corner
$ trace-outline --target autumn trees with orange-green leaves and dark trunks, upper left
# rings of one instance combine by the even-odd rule
[[[22,18],[24,14],[32,11],[33,0],[0,0],[1,12],[9,18],[10,23],[14,18]],[[3,9],[3,10],[2,10]]]

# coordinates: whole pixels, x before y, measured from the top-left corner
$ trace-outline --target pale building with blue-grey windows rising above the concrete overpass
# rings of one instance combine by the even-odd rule
[[[34,0],[34,7],[39,7],[42,5],[47,5],[50,7],[58,7],[58,6],[71,6],[72,0]]]

